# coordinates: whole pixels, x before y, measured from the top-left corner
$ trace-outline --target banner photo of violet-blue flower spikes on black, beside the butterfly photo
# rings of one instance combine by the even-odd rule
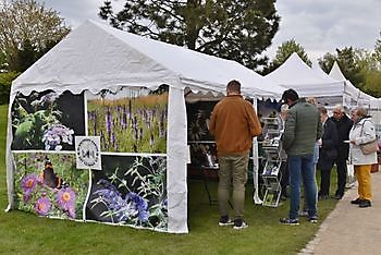
[[[167,158],[102,156],[93,171],[86,220],[168,230]]]

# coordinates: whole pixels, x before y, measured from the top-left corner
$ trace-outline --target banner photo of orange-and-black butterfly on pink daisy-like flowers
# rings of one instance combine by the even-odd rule
[[[14,153],[16,208],[38,216],[83,219],[88,171],[75,168],[75,155]]]

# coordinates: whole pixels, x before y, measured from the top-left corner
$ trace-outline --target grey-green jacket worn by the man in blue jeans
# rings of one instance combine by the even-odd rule
[[[317,139],[322,135],[318,108],[297,100],[288,110],[283,134],[283,148],[288,156],[312,155]]]

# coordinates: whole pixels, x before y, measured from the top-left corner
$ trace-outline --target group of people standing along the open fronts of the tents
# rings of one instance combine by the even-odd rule
[[[331,171],[336,166],[337,190],[332,198],[344,195],[347,163],[353,165],[358,181],[358,197],[351,202],[360,208],[370,207],[370,170],[377,163],[377,135],[374,123],[365,108],[353,109],[351,118],[342,105],[328,109],[318,106],[314,98],[299,98],[294,89],[283,93],[280,117],[284,123],[281,139],[282,196],[290,197],[290,210],[279,221],[299,224],[299,217],[318,222],[318,201],[330,198]],[[218,201],[219,226],[247,228],[244,220],[245,184],[253,137],[262,129],[250,102],[241,95],[238,81],[226,86],[226,97],[218,102],[210,117],[209,131],[214,135],[219,159]],[[376,147],[373,146],[376,142]],[[317,184],[316,171],[320,171]],[[304,206],[299,210],[300,190]],[[229,198],[232,187],[234,218],[229,216]]]

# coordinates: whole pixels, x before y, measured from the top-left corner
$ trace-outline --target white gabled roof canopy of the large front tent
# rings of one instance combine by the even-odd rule
[[[88,89],[97,94],[161,84],[224,92],[233,78],[251,96],[276,98],[284,90],[235,61],[86,21],[13,82],[11,97],[16,92]]]

